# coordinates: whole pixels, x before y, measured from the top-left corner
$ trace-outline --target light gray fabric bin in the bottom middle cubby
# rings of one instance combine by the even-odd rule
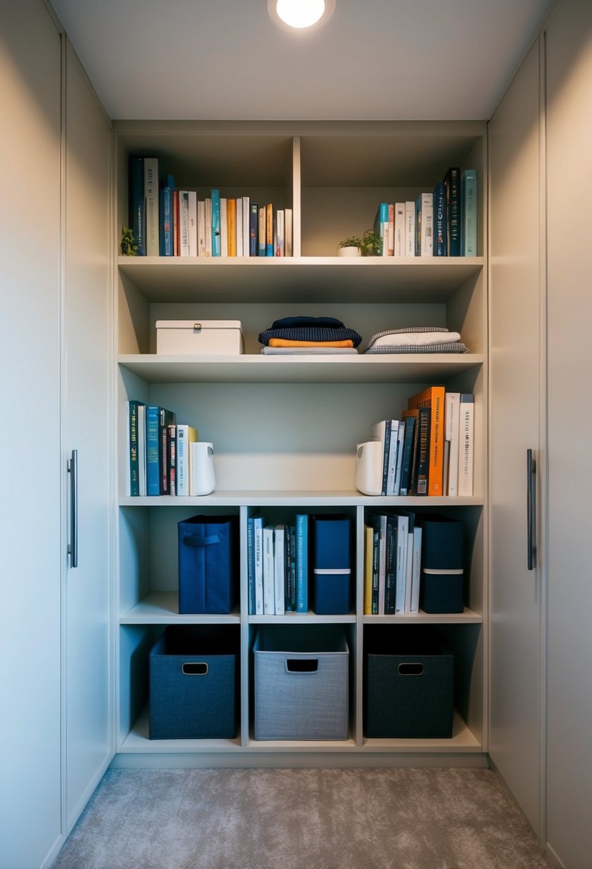
[[[261,627],[253,645],[256,740],[345,740],[349,649],[339,626]]]

